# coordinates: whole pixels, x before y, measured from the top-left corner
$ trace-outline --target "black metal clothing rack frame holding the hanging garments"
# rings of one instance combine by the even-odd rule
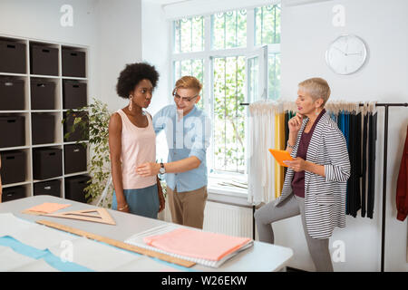
[[[241,106],[248,106],[248,102],[241,102]],[[364,106],[364,103],[359,104],[360,107]],[[375,107],[384,107],[384,169],[383,169],[383,217],[381,226],[381,272],[384,272],[384,254],[385,254],[385,203],[387,195],[387,161],[388,161],[388,111],[390,107],[408,107],[408,102],[393,103],[393,102],[379,102],[375,104]],[[255,206],[252,209],[255,212]],[[255,220],[253,221],[253,237],[255,239]]]

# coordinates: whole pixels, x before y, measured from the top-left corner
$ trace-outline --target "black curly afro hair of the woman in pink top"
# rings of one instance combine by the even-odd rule
[[[121,98],[129,99],[129,93],[134,90],[134,87],[141,80],[151,81],[154,89],[159,80],[159,73],[149,63],[126,64],[126,67],[119,75],[116,92]]]

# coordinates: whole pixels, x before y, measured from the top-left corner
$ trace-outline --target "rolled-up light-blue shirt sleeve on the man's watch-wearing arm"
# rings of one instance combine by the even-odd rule
[[[198,126],[196,125],[194,141],[189,151],[189,157],[195,156],[202,162],[205,160],[207,149],[209,148],[211,121],[206,115],[203,115],[199,120],[200,124]]]

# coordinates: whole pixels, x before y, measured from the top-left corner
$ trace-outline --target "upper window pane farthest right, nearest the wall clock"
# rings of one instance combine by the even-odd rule
[[[280,43],[280,5],[255,8],[256,45]]]

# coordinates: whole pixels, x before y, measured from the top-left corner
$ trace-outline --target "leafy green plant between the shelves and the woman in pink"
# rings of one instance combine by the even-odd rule
[[[78,114],[78,111],[85,111],[87,113],[81,115]],[[91,159],[88,163],[88,169],[92,179],[84,191],[85,198],[89,198],[90,202],[92,202],[102,194],[111,174],[108,142],[108,128],[111,113],[108,111],[107,104],[93,98],[92,104],[88,106],[66,111],[63,122],[69,118],[74,118],[73,126],[68,128],[64,138],[68,139],[73,132],[80,131],[85,139],[89,139]],[[85,142],[77,141],[76,143],[86,147]],[[113,187],[111,184],[102,205],[106,201],[106,198],[112,197],[112,192]],[[111,204],[108,204],[108,208],[111,206]]]

